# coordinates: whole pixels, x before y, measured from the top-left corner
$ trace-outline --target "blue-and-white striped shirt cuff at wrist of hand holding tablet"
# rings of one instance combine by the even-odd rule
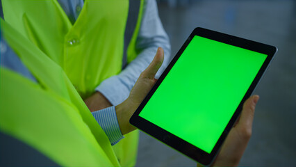
[[[109,138],[111,145],[118,143],[124,136],[120,131],[120,125],[116,116],[115,106],[92,112],[92,116],[97,120],[101,128]]]

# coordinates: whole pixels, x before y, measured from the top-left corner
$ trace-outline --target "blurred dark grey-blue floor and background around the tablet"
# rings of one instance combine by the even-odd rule
[[[255,94],[253,134],[240,166],[296,166],[296,0],[162,0],[158,12],[172,56],[197,26],[279,48]],[[140,133],[136,166],[196,166]]]

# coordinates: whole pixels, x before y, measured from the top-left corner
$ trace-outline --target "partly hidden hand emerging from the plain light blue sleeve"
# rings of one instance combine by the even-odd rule
[[[112,106],[112,104],[100,92],[95,92],[86,100],[84,100],[84,102],[86,106],[88,106],[88,109],[90,109],[91,112],[98,111],[101,109],[105,109],[109,106]]]

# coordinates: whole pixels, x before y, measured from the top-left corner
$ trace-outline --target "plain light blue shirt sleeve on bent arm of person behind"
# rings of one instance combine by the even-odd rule
[[[146,1],[142,22],[136,40],[135,49],[138,56],[126,66],[118,75],[110,77],[96,88],[111,104],[117,105],[129,97],[129,93],[140,73],[153,60],[158,47],[163,47],[165,59],[160,70],[156,74],[158,78],[170,62],[170,40],[163,29],[155,0]]]

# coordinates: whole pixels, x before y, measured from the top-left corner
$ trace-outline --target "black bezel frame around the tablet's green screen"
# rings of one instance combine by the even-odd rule
[[[213,148],[211,154],[208,154],[207,152],[200,150],[195,145],[192,145],[187,141],[184,141],[183,139],[175,136],[174,134],[171,134],[170,132],[167,132],[165,129],[162,129],[161,127],[158,127],[153,123],[149,122],[148,120],[145,120],[144,118],[139,116],[140,111],[142,111],[144,106],[149,101],[150,97],[154,94],[154,92],[156,91],[158,86],[161,84],[163,79],[165,79],[167,73],[170,72],[170,70],[174,66],[174,63],[176,63],[176,61],[179,59],[179,57],[181,56],[181,54],[186,49],[186,47],[188,46],[188,44],[190,43],[190,41],[195,35],[268,55],[261,69],[259,70],[258,74],[256,74],[254,81],[252,81],[251,86],[247,90],[247,93],[245,94],[245,96],[242,98],[242,101],[238,105],[238,108],[233,113],[233,116],[231,117],[231,120],[227,124],[227,127],[224,129],[224,132],[222,133],[219,140],[215,144],[215,147]],[[138,129],[149,134],[150,136],[157,138],[159,141],[162,141],[163,143],[169,145],[170,147],[176,150],[179,150],[179,152],[186,154],[188,157],[194,159],[195,161],[198,161],[199,163],[204,165],[211,164],[211,162],[215,158],[215,155],[219,151],[220,146],[222,145],[223,141],[227,137],[227,134],[229,133],[234,123],[236,122],[238,116],[240,115],[240,112],[242,111],[242,104],[245,102],[245,100],[247,100],[247,98],[250,97],[250,95],[252,95],[253,90],[256,88],[256,85],[260,81],[265,70],[268,68],[270,61],[272,61],[272,58],[274,57],[274,54],[276,52],[277,52],[277,47],[265,45],[260,42],[254,42],[252,40],[238,38],[236,36],[228,35],[225,33],[219,33],[217,31],[211,31],[208,29],[197,27],[194,31],[192,31],[192,33],[190,34],[186,42],[183,44],[183,46],[178,51],[176,56],[174,56],[174,58],[172,59],[171,63],[167,66],[163,74],[161,74],[161,77],[158,79],[158,81],[156,81],[156,84],[153,86],[153,88],[151,88],[150,92],[142,101],[142,103],[140,104],[138,109],[135,111],[135,113],[133,113],[133,116],[130,119],[130,123],[131,125],[138,127]]]

